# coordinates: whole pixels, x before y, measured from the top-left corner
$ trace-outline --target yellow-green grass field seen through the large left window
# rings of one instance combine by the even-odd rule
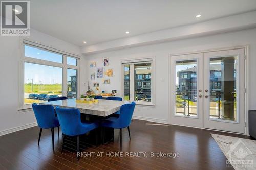
[[[31,83],[24,84],[25,93],[36,93],[36,94],[61,94],[62,93],[62,84],[33,84],[33,92]]]

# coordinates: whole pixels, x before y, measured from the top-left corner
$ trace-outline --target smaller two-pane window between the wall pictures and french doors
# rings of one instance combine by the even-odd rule
[[[124,100],[134,100],[141,104],[152,104],[152,61],[125,63]],[[129,80],[126,79],[129,75]],[[127,88],[127,84],[130,84]]]

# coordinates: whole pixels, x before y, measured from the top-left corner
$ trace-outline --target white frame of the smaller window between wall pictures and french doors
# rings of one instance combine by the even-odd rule
[[[141,63],[151,63],[151,102],[135,101],[135,75],[134,65]],[[121,72],[124,72],[124,65],[130,65],[130,100],[135,101],[138,105],[155,106],[155,56],[134,58],[121,61]],[[124,74],[121,74],[121,96],[124,99]]]

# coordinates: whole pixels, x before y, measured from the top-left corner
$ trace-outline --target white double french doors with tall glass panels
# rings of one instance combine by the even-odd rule
[[[170,123],[244,133],[244,49],[171,57]]]

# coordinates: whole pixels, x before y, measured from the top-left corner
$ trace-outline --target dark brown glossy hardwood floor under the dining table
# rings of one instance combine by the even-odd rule
[[[150,125],[148,125],[149,123]],[[233,169],[226,167],[226,157],[210,133],[248,138],[243,135],[133,120],[131,141],[123,129],[122,152],[147,152],[148,157],[108,157],[105,153],[119,152],[119,130],[114,142],[95,147],[81,142],[81,152],[95,155],[76,159],[76,143],[67,139],[61,153],[62,135],[55,129],[55,151],[52,150],[51,130],[43,130],[37,145],[39,128],[0,136],[0,169]],[[102,157],[97,157],[103,152]],[[179,153],[176,158],[150,157],[150,152]],[[125,155],[125,154],[124,154]]]

